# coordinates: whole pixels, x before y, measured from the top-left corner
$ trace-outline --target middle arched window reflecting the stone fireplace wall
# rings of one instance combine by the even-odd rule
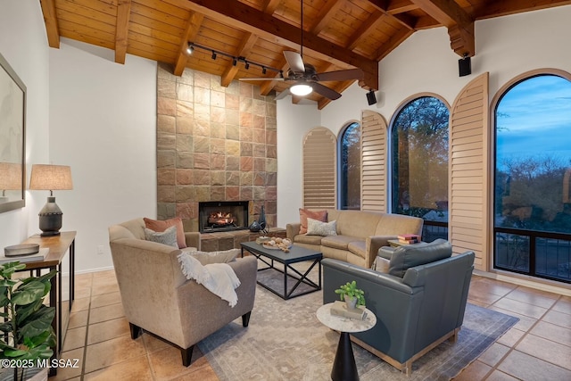
[[[391,211],[424,219],[426,242],[448,238],[448,120],[443,101],[421,96],[391,129]]]

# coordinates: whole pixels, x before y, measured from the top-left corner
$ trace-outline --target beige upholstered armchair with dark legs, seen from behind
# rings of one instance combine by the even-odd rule
[[[123,310],[136,339],[141,329],[178,346],[185,366],[194,344],[232,320],[248,326],[256,290],[257,261],[253,256],[228,263],[241,285],[234,308],[180,269],[180,250],[145,240],[145,222],[132,219],[109,228],[113,266]],[[186,244],[200,248],[199,233],[186,233]]]

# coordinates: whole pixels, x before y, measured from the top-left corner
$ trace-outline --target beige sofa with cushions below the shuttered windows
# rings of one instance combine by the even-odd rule
[[[300,234],[301,223],[286,225],[286,235],[294,244],[317,250],[324,257],[370,268],[378,249],[401,234],[422,234],[423,220],[417,217],[377,211],[327,209],[327,221],[336,220],[337,236]]]

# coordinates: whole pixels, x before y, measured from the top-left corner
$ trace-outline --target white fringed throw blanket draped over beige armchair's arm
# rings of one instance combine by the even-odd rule
[[[218,295],[222,300],[234,307],[238,302],[236,287],[240,286],[240,279],[228,263],[211,263],[204,265],[189,253],[178,255],[180,268],[186,279],[194,279],[203,285],[212,294]]]

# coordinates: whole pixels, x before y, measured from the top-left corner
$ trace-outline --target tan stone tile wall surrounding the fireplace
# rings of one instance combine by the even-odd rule
[[[250,223],[265,205],[276,226],[277,120],[258,87],[186,69],[157,70],[157,215],[198,231],[198,203],[250,201]]]

